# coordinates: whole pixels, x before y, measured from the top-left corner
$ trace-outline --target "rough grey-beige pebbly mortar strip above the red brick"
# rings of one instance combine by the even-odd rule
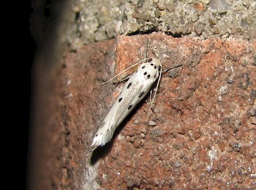
[[[67,39],[77,49],[92,41],[162,31],[174,36],[242,35],[256,37],[253,0],[73,1],[74,26]]]

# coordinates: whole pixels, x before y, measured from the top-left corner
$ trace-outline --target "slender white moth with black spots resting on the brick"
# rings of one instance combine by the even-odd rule
[[[121,94],[119,94],[108,114],[105,116],[105,119],[102,121],[98,132],[93,138],[89,151],[93,151],[98,146],[104,146],[109,142],[117,126],[121,124],[125,117],[141,102],[158,78],[159,84],[159,75],[162,74],[162,65],[156,58],[147,59],[150,59],[150,61],[141,64],[126,82]],[[150,107],[153,102],[154,99]]]

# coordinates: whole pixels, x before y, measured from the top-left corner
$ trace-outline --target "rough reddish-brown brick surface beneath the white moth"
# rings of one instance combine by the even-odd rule
[[[142,60],[147,39],[147,56],[159,58],[164,68],[154,113],[147,118],[147,97],[112,141],[88,153],[123,86],[100,83]],[[50,115],[61,121],[52,124],[60,127],[52,134],[59,176],[52,176],[51,184],[56,189],[255,189],[255,48],[253,40],[151,33],[67,52],[57,68],[61,109]]]

